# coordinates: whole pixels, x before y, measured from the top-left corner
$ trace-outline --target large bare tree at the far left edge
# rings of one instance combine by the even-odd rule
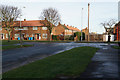
[[[8,33],[8,42],[10,42],[10,34],[13,30],[14,21],[20,16],[21,10],[14,6],[0,6],[2,15],[2,25]]]

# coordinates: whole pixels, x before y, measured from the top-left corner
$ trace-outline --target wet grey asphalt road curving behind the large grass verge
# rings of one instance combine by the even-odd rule
[[[33,47],[17,48],[2,52],[3,72],[17,68],[24,64],[51,56],[65,50],[80,46],[93,46],[101,49],[107,48],[107,43],[40,43],[25,42],[24,44],[34,44]],[[115,44],[111,44],[115,45]]]

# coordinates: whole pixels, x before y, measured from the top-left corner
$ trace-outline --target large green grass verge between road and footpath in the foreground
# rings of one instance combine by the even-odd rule
[[[97,50],[94,47],[77,47],[8,71],[3,78],[80,76]]]

